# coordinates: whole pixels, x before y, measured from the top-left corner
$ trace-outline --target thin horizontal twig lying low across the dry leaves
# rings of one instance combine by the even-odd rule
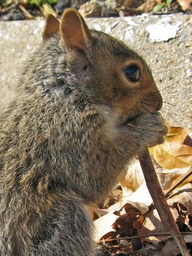
[[[192,232],[181,232],[182,236],[191,235]],[[158,237],[158,236],[172,236],[170,232],[163,232],[163,233],[154,233],[149,235],[142,235],[142,236],[126,236],[126,237],[117,237],[117,238],[109,238],[109,239],[101,239],[98,243],[102,242],[111,242],[111,241],[119,241],[119,240],[129,240],[129,239],[137,239],[137,238],[145,238],[145,237]]]

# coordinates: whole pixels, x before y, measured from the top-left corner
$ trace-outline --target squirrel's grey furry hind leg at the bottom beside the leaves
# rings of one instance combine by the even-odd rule
[[[94,256],[92,221],[78,198],[65,198],[57,205],[49,236],[38,246],[36,256]],[[51,233],[51,236],[50,236]]]

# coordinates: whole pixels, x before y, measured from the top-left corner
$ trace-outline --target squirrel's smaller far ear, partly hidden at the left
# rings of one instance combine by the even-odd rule
[[[59,20],[54,15],[48,14],[43,31],[43,41],[46,41],[57,32],[59,32]]]

